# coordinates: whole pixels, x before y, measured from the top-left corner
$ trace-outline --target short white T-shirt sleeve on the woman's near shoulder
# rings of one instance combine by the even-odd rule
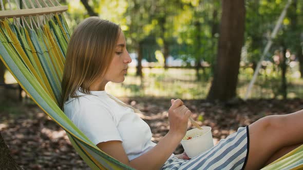
[[[120,140],[121,136],[114,117],[102,105],[90,103],[80,109],[79,129],[94,143]]]

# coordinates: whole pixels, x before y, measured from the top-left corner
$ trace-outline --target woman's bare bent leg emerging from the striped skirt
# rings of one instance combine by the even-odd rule
[[[263,117],[249,125],[250,148],[245,169],[260,169],[281,148],[303,142],[303,110]]]

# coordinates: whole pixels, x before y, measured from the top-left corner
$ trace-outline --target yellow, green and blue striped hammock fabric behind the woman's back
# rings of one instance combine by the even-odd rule
[[[70,32],[56,14],[42,28],[26,29],[0,20],[0,58],[39,107],[68,135],[91,169],[132,169],[102,152],[59,108],[61,79]]]

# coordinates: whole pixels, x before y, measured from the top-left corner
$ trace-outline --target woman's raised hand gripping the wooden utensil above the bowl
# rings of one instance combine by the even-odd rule
[[[184,137],[187,131],[188,118],[192,112],[183,105],[180,99],[171,100],[172,106],[168,110],[169,132],[177,135],[180,140]]]

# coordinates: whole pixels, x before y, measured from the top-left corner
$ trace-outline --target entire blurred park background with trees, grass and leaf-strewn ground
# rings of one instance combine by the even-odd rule
[[[215,143],[261,117],[303,108],[302,1],[59,3],[69,8],[64,15],[71,32],[89,16],[120,24],[132,63],[125,81],[109,83],[106,90],[142,111],[154,142],[168,132],[171,98],[183,99],[200,125],[212,127]],[[272,46],[263,53],[269,41]],[[28,98],[2,64],[0,83],[1,135],[21,167],[88,169],[64,130]],[[188,128],[193,128],[190,123]],[[180,145],[175,153],[182,151]]]

